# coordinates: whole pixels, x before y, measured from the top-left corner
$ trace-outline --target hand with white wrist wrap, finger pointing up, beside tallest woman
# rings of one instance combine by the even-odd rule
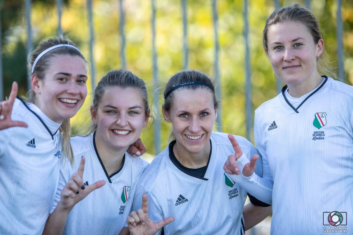
[[[240,148],[237,140],[235,140],[235,138],[232,134],[228,134],[228,138],[232,143],[232,146],[233,146],[235,153],[228,156],[228,160],[224,164],[223,169],[228,174],[239,175],[240,171],[239,171],[239,166],[237,164],[237,160],[241,157],[241,155],[243,155],[243,151],[241,151],[241,148]],[[257,154],[253,155],[250,159],[250,163],[247,163],[244,166],[243,175],[245,177],[250,177],[254,173],[254,171],[256,169],[256,161],[258,158],[259,158],[259,155],[257,155]]]

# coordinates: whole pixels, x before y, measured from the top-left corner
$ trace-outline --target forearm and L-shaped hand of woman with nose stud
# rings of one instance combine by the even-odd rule
[[[102,187],[106,182],[104,180],[85,186],[82,176],[85,166],[85,157],[82,156],[80,166],[76,173],[73,173],[71,179],[61,190],[61,198],[55,210],[49,215],[43,234],[56,235],[62,234],[68,214],[80,200],[85,198],[90,192]]]

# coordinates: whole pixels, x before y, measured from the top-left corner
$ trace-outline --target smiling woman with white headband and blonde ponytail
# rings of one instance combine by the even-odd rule
[[[59,158],[73,162],[70,118],[87,95],[85,58],[68,39],[42,40],[29,67],[28,102],[16,98],[14,82],[8,101],[0,103],[0,234],[43,232],[58,187]]]

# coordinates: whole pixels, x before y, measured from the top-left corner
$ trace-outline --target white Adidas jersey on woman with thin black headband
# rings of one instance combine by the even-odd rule
[[[259,154],[244,137],[235,136],[246,156]],[[173,216],[164,226],[164,234],[244,234],[243,207],[247,192],[226,178],[223,165],[234,153],[227,134],[213,132],[211,156],[204,178],[180,170],[169,156],[169,146],[142,174],[134,198],[133,210],[141,208],[142,194],[148,196],[148,214],[152,221]],[[262,174],[261,158],[257,174]],[[157,234],[161,234],[162,229]]]

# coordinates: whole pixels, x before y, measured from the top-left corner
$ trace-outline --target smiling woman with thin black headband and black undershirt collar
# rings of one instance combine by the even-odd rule
[[[131,234],[244,234],[270,214],[271,206],[253,197],[244,206],[248,193],[223,171],[235,146],[213,132],[218,104],[207,75],[185,70],[169,79],[162,109],[171,142],[140,178],[127,218]],[[235,138],[247,156],[259,154]],[[262,174],[261,159],[256,171]]]

